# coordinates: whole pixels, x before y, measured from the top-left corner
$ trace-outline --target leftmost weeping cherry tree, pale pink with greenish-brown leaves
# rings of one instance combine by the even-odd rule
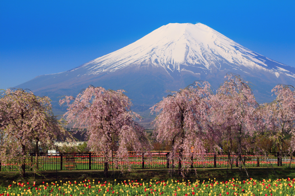
[[[0,99],[1,162],[20,160],[25,175],[27,154],[38,146],[50,147],[66,131],[53,115],[48,97],[38,97],[23,89],[7,89]]]

